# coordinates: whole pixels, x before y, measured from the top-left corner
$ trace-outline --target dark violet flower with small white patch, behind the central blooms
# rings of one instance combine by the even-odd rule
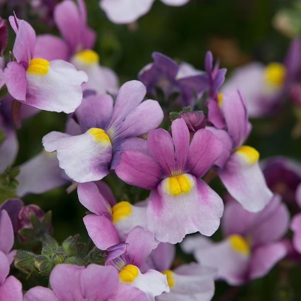
[[[165,97],[178,92],[177,102],[181,105],[195,103],[195,95],[200,95],[207,87],[205,72],[198,71],[186,63],[178,65],[168,56],[154,52],[154,63],[142,68],[138,79],[146,86],[147,93],[156,95],[156,86],[159,86]]]

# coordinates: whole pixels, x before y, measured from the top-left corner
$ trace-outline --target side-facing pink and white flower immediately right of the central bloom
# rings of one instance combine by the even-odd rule
[[[246,210],[262,210],[272,193],[266,186],[258,164],[259,153],[255,148],[243,145],[250,133],[251,124],[239,90],[223,94],[219,102],[219,114],[215,115],[216,119],[210,119],[209,115],[209,121],[216,127],[206,127],[223,143],[222,156],[215,163],[217,173],[230,195]]]

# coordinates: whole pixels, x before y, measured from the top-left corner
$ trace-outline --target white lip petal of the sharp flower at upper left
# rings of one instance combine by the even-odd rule
[[[86,73],[62,60],[50,62],[48,72],[41,76],[26,73],[26,104],[55,112],[72,113],[82,101],[81,84]]]

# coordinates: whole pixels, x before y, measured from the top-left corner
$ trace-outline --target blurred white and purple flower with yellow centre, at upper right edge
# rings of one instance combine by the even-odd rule
[[[297,40],[291,43],[284,63],[271,62],[267,65],[252,62],[237,68],[221,87],[222,93],[239,89],[243,92],[252,118],[272,114],[281,104],[289,90],[296,94],[297,86],[292,87],[301,66],[301,47]]]

